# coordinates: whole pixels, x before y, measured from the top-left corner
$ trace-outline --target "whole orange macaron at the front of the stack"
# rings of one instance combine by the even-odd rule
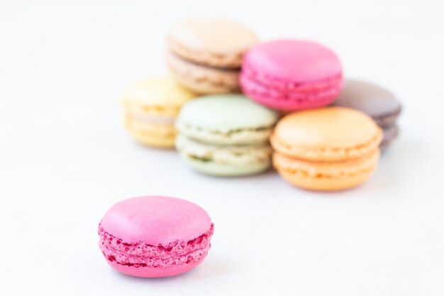
[[[365,182],[377,167],[382,130],[366,114],[343,107],[295,112],[271,137],[274,168],[306,190],[345,190]]]

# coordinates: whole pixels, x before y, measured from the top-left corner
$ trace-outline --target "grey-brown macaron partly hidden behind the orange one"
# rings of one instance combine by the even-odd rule
[[[372,117],[384,131],[382,149],[387,148],[398,136],[399,128],[396,120],[401,114],[401,103],[384,87],[362,80],[345,80],[344,87],[333,106],[357,109]]]

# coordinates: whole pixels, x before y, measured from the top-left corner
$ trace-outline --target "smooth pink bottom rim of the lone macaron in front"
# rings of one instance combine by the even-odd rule
[[[135,268],[133,266],[121,265],[115,262],[111,262],[106,260],[106,262],[119,273],[124,273],[126,275],[135,276],[138,278],[165,278],[174,275],[180,275],[182,273],[187,273],[189,270],[192,270],[197,265],[202,263],[205,258],[201,258],[199,261],[194,263],[187,263],[182,265],[177,265],[174,267],[156,267],[156,268],[148,268],[148,267],[138,267]]]

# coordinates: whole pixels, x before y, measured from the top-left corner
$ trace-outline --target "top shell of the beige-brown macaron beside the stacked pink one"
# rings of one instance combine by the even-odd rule
[[[242,54],[258,42],[249,28],[218,18],[188,18],[170,31],[170,49],[192,62],[240,67]]]

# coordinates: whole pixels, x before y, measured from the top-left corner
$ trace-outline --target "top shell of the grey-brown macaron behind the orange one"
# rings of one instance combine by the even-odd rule
[[[360,80],[345,80],[344,87],[333,105],[360,110],[373,119],[401,112],[401,104],[392,92]]]

